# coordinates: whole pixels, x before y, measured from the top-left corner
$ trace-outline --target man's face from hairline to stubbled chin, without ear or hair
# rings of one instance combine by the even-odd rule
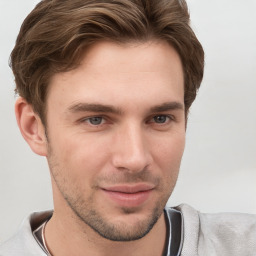
[[[183,71],[165,42],[101,42],[54,75],[47,102],[56,212],[110,240],[143,237],[175,186],[185,141]]]

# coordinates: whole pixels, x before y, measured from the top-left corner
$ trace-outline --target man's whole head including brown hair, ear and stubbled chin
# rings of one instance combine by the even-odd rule
[[[57,212],[111,240],[151,230],[178,176],[203,58],[185,1],[36,6],[11,66],[18,123],[48,159]]]

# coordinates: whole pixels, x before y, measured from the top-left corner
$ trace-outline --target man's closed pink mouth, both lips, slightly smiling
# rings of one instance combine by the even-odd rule
[[[139,207],[145,204],[152,194],[150,184],[116,185],[102,188],[108,200],[121,207]]]

